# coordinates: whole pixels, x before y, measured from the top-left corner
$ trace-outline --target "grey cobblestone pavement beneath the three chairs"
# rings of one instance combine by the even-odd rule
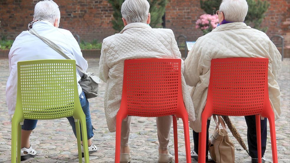
[[[89,71],[97,73],[99,59],[88,59]],[[290,162],[290,123],[289,123],[289,102],[290,102],[290,72],[289,58],[282,62],[282,71],[278,80],[281,88],[282,115],[276,121],[276,136],[279,163]],[[8,59],[0,59],[0,162],[8,163],[11,160],[11,124],[7,106],[5,102],[5,88],[9,76]],[[100,95],[97,98],[89,99],[92,123],[94,131],[94,144],[98,146],[98,152],[91,154],[90,162],[114,162],[115,152],[115,133],[110,133],[107,129],[104,114],[104,91],[105,83],[100,85]],[[231,117],[233,123],[240,131],[241,136],[247,144],[246,123],[243,117]],[[210,133],[214,130],[214,123],[211,123]],[[171,141],[169,152],[174,154],[173,129],[171,129]],[[157,162],[158,159],[158,139],[156,132],[155,118],[133,117],[130,131],[130,149],[132,163]],[[250,162],[250,157],[237,143],[230,134],[235,144],[235,160],[237,163]],[[192,130],[190,131],[191,149],[193,148]],[[24,162],[43,162],[43,163],[76,163],[77,144],[71,126],[66,118],[38,121],[37,128],[31,136],[31,144],[38,152],[34,159]],[[178,121],[178,146],[179,162],[185,163],[185,146],[183,137],[183,124]],[[270,132],[268,129],[268,141],[266,149],[266,160],[272,162]],[[192,160],[193,163],[196,161]]]

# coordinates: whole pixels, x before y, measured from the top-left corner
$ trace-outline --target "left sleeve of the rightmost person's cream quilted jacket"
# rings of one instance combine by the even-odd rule
[[[192,50],[184,60],[186,68],[184,72],[185,82],[192,87],[196,87],[197,83],[200,81],[199,76],[202,75],[202,70],[199,69],[200,53],[197,51],[196,45],[197,44],[192,47]]]

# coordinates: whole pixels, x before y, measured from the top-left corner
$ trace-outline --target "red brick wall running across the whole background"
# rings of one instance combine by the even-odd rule
[[[176,37],[185,35],[188,40],[196,40],[202,32],[195,29],[195,21],[204,11],[199,1],[168,0],[166,7],[166,28],[173,29]],[[269,0],[270,9],[262,26],[268,27],[267,34],[283,35],[285,45],[290,46],[290,0]],[[112,7],[107,0],[55,0],[60,8],[60,27],[78,34],[82,40],[102,41],[115,33],[112,29]],[[14,39],[33,19],[33,9],[37,0],[0,1],[0,38]]]

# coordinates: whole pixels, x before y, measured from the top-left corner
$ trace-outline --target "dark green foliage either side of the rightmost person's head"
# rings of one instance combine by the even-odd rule
[[[245,23],[252,28],[259,29],[263,32],[267,31],[267,27],[261,28],[261,23],[265,18],[265,13],[268,10],[270,3],[267,0],[246,0],[248,3],[248,14],[245,17]],[[222,0],[200,0],[201,9],[207,14],[213,14],[219,10],[219,5]]]

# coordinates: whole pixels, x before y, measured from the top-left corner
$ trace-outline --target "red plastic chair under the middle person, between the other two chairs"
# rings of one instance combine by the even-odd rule
[[[122,101],[116,121],[115,163],[120,162],[121,124],[127,116],[173,116],[175,162],[178,162],[177,117],[182,118],[186,162],[191,163],[188,114],[181,89],[181,59],[124,61]]]

